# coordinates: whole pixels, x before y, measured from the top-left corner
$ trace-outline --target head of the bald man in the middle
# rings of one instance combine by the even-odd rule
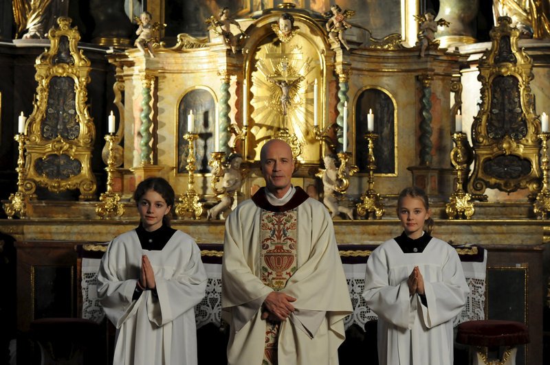
[[[281,139],[272,139],[263,145],[260,156],[265,187],[277,198],[283,198],[294,172],[290,146]]]

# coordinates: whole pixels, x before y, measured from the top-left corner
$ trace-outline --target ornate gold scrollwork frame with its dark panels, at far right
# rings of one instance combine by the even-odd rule
[[[479,62],[481,108],[472,124],[474,171],[467,185],[472,196],[487,188],[508,193],[540,189],[540,123],[533,113],[529,82],[532,60],[518,48],[520,30],[501,16],[490,32],[491,49]]]

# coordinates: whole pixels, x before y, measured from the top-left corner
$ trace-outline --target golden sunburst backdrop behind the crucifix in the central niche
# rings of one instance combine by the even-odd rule
[[[279,128],[288,128],[300,143],[311,139],[316,68],[298,51],[294,47],[290,54],[273,49],[256,55],[250,88],[256,141],[270,139]]]

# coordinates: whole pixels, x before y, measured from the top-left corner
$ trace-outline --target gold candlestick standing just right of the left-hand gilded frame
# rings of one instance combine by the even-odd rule
[[[107,158],[107,191],[101,193],[99,200],[101,203],[96,205],[96,214],[101,218],[122,217],[124,214],[124,206],[120,203],[120,194],[113,193],[113,172],[115,167],[115,142],[118,137],[114,133],[105,135],[107,148],[109,149],[109,157]]]

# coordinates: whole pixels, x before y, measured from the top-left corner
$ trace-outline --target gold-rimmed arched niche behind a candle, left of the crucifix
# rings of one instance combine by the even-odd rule
[[[190,111],[195,115],[194,132],[199,134],[195,141],[195,172],[206,174],[210,172],[208,159],[214,152],[214,129],[216,125],[216,104],[214,93],[206,86],[195,86],[179,99],[177,104],[177,173],[187,173],[188,141],[184,139],[187,130],[187,117]]]

